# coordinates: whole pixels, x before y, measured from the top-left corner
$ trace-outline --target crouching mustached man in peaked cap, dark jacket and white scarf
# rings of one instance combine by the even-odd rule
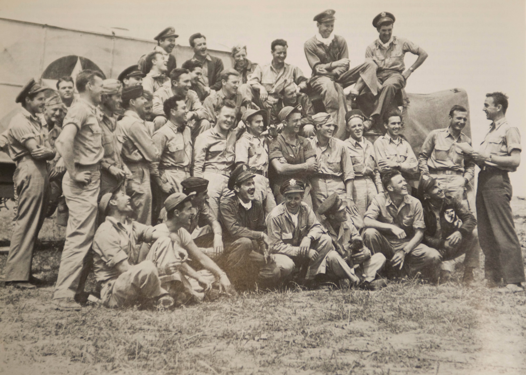
[[[221,263],[238,289],[273,288],[279,285],[281,272],[269,255],[269,238],[264,232],[265,212],[256,199],[256,174],[239,164],[228,180],[232,196],[219,206],[224,229],[225,252]]]

